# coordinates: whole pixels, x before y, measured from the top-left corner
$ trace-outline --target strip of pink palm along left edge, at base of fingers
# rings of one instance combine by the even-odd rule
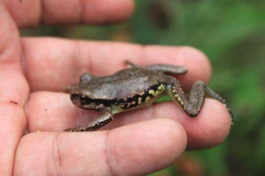
[[[12,175],[16,147],[26,127],[23,106],[28,86],[20,66],[18,31],[1,2],[0,26],[0,173]]]

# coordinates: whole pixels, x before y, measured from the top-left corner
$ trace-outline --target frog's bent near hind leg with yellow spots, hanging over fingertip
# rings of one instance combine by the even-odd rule
[[[224,99],[217,93],[213,92],[211,88],[204,84],[203,81],[196,81],[193,84],[188,98],[185,96],[185,93],[180,87],[179,81],[176,78],[168,76],[168,83],[167,93],[173,98],[175,102],[181,104],[185,112],[190,116],[196,116],[200,112],[204,102],[205,92],[207,92],[212,98],[223,103],[228,108]],[[229,113],[233,124],[233,114],[230,110]]]

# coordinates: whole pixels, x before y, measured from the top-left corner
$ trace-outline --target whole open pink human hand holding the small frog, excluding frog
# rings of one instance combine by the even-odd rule
[[[0,1],[1,176],[145,175],[170,165],[185,150],[225,140],[230,117],[212,99],[205,100],[195,118],[163,102],[117,114],[98,132],[62,132],[98,115],[78,109],[59,92],[85,71],[112,74],[125,68],[125,59],[138,65],[163,61],[187,67],[188,73],[178,77],[185,90],[195,80],[210,81],[208,59],[192,47],[21,38],[17,28],[119,22],[132,11],[132,0]]]

